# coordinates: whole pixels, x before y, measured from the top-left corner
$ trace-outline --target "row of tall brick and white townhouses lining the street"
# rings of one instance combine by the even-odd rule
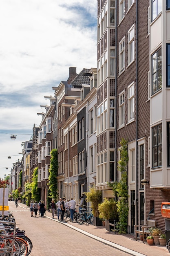
[[[97,0],[97,68],[69,68],[33,128],[25,180],[38,166],[46,200],[50,152],[58,150],[59,197],[95,185],[113,198],[122,138],[128,139],[128,232],[157,220],[170,200],[170,0]],[[37,141],[38,137],[38,141]],[[29,143],[27,141],[26,143]],[[24,150],[26,149],[26,143]],[[29,172],[27,172],[27,165]],[[143,183],[141,183],[143,180]]]

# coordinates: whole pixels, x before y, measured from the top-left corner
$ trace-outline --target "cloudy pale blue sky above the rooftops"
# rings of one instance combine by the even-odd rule
[[[96,44],[96,0],[0,0],[1,178],[40,125],[44,96],[54,96],[69,67],[96,67]]]

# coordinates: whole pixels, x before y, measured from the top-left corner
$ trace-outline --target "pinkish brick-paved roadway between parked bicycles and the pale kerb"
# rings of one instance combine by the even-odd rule
[[[49,218],[31,217],[29,208],[23,209],[14,202],[9,202],[9,211],[16,220],[17,227],[25,230],[32,243],[30,256],[127,256],[93,238],[85,236],[60,222]],[[39,216],[39,215],[38,215]]]

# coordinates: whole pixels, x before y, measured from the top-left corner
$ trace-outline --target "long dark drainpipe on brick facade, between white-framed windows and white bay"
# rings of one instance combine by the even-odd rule
[[[138,223],[138,208],[139,208],[139,198],[138,198],[138,0],[136,0],[136,216]]]

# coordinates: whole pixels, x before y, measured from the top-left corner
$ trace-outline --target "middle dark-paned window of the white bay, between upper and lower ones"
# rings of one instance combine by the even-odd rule
[[[152,94],[162,87],[162,56],[161,48],[152,54]]]

